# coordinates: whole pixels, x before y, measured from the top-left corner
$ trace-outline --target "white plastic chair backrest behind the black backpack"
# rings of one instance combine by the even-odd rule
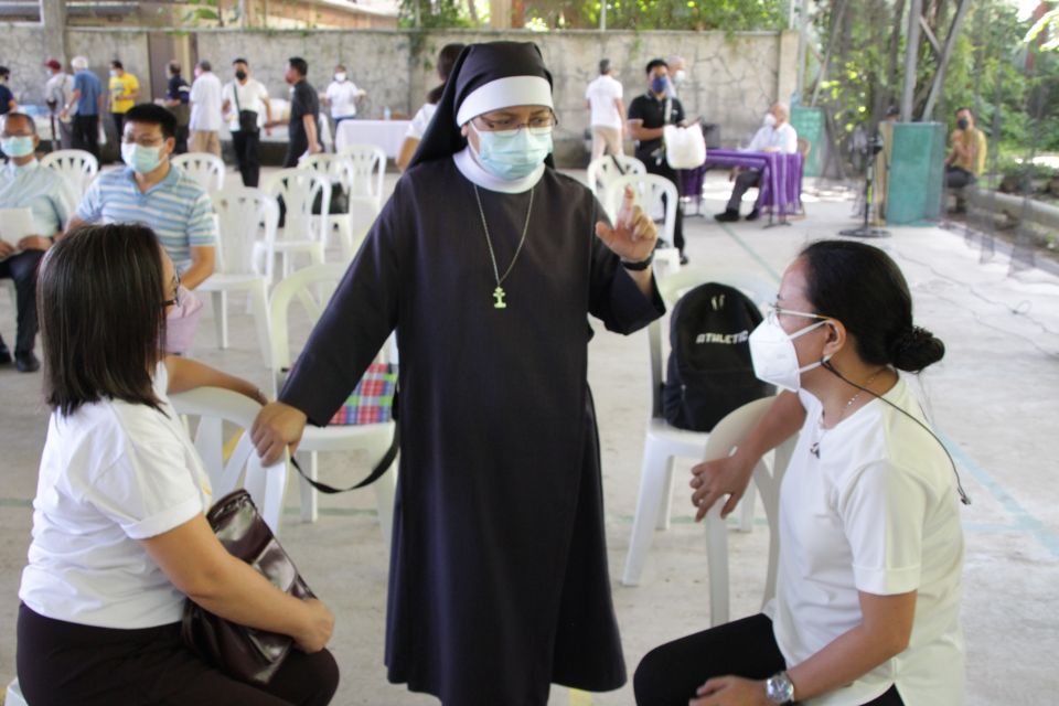
[[[752,299],[759,308],[775,301],[778,286],[764,277],[730,269],[710,269],[704,267],[683,267],[676,272],[659,279],[659,293],[667,310],[689,289],[706,282],[719,282],[735,287]],[[648,325],[648,346],[651,362],[651,417],[662,418],[662,383],[665,379],[665,360],[668,343],[668,324],[655,319]],[[710,432],[713,434],[713,432]]]

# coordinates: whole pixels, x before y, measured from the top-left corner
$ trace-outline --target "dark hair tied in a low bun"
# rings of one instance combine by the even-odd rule
[[[912,324],[908,282],[886,253],[855,240],[819,240],[800,257],[809,268],[809,301],[842,321],[865,363],[918,373],[944,356],[945,345]]]

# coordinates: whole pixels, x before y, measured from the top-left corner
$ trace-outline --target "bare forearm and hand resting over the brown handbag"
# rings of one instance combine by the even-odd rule
[[[331,639],[334,616],[323,603],[288,596],[228,554],[204,515],[141,544],[181,592],[212,613],[290,635],[306,652],[322,650]]]

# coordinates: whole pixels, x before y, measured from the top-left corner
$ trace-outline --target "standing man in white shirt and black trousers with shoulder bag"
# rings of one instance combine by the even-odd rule
[[[227,116],[232,146],[239,163],[244,186],[257,186],[261,162],[258,151],[261,142],[261,114],[265,114],[265,133],[271,135],[272,105],[268,89],[256,78],[250,78],[250,65],[245,58],[232,62],[235,81],[224,85],[221,111]]]

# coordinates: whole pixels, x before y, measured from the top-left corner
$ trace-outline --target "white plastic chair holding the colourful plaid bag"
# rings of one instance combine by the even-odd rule
[[[315,323],[328,300],[338,286],[338,282],[345,275],[344,265],[312,265],[304,269],[293,272],[290,277],[284,279],[272,290],[272,299],[269,304],[270,311],[270,331],[272,336],[271,354],[271,379],[274,383],[274,395],[279,389],[279,383],[286,371],[291,364],[291,354],[289,345],[288,315],[290,303],[298,299],[309,315],[312,323]],[[321,290],[325,290],[324,293]],[[352,391],[350,391],[352,392]],[[301,442],[298,445],[298,456],[309,454],[309,464],[306,473],[317,479],[317,453],[319,451],[364,451],[373,463],[382,459],[383,454],[389,449],[394,438],[395,424],[386,421],[383,424],[349,425],[306,427]],[[304,467],[304,464],[302,464]],[[365,473],[366,474],[366,473]],[[396,488],[396,472],[385,473],[372,488],[375,490],[375,498],[378,507],[378,522],[383,531],[383,539],[386,546],[389,546],[391,531],[394,524],[394,492]],[[303,479],[301,480],[301,518],[303,522],[315,522],[318,516],[317,491]]]

